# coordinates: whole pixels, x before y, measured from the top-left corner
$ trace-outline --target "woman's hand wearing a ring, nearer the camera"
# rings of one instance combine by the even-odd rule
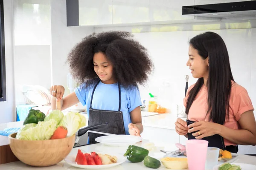
[[[192,129],[189,129],[188,132],[189,133],[195,132],[195,133],[192,133],[193,136],[196,136],[195,139],[202,139],[207,136],[212,136],[212,135],[218,134],[218,132],[221,131],[220,124],[207,122],[207,121],[195,122],[189,125],[188,127],[189,128],[193,127]]]

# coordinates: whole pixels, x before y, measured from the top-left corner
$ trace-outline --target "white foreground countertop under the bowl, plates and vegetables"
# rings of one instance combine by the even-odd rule
[[[141,146],[143,144],[143,142],[138,142],[136,145]],[[160,159],[164,156],[164,153],[160,152],[160,149],[164,149],[164,150],[175,150],[177,149],[175,147],[175,144],[160,144],[156,146],[160,146],[157,147],[157,149],[153,152],[150,151],[149,152],[149,156],[152,156],[156,159]],[[168,147],[162,147],[162,146],[168,146]],[[125,153],[125,150],[127,149],[127,147],[111,147],[111,146],[106,146],[103,144],[91,144],[91,145],[87,145],[87,146],[82,146],[82,147],[77,147],[77,148],[73,148],[73,150],[71,151],[70,154],[76,154],[77,150],[81,149],[85,152],[91,152],[91,151],[100,151],[102,153],[119,153],[119,154],[123,154]],[[256,165],[256,157],[254,156],[246,156],[246,155],[239,155],[239,158],[234,161],[233,163],[245,163],[245,164],[254,164]],[[51,167],[31,167],[29,165],[23,164],[20,161],[16,161],[16,162],[12,162],[12,163],[8,163],[8,164],[2,164],[0,165],[0,169],[1,170],[32,170],[32,169],[41,169],[41,170],[81,170],[80,168],[76,168],[76,167],[72,167],[69,164],[65,163],[65,161],[61,161],[56,165],[53,165]],[[139,163],[131,163],[128,160],[126,160],[123,164],[118,165],[116,167],[111,167],[109,168],[111,170],[150,170],[151,168],[147,168],[143,165],[143,162],[139,162]],[[158,168],[159,170],[163,170],[166,169],[165,167],[161,166],[160,168]],[[167,169],[166,169],[167,170]]]

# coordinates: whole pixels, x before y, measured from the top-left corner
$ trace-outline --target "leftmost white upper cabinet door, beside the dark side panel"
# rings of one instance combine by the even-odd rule
[[[79,26],[112,24],[112,0],[79,0]]]

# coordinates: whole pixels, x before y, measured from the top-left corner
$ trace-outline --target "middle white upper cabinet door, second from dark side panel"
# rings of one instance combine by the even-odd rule
[[[113,0],[113,24],[150,21],[150,0]]]

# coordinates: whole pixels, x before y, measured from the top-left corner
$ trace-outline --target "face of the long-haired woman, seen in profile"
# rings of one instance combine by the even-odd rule
[[[189,66],[192,76],[194,78],[208,79],[209,76],[209,62],[208,57],[203,59],[198,51],[193,48],[192,45],[189,45],[189,60],[186,65]]]

